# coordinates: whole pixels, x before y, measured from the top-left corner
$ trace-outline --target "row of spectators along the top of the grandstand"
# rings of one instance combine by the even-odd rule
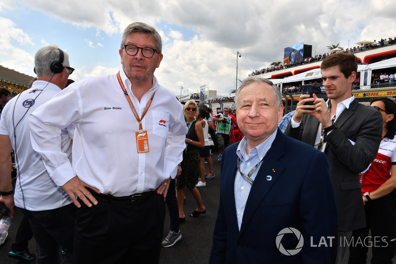
[[[387,45],[393,45],[396,44],[396,37],[394,39],[392,38],[385,38],[385,39],[381,39],[380,41],[376,41],[374,40],[373,42],[369,42],[366,43],[364,45],[360,45],[360,46],[355,46],[353,48],[347,48],[345,51],[346,53],[357,53],[357,52],[362,52],[362,51],[366,51],[369,49],[375,49],[375,48],[379,48],[379,47],[384,47]],[[340,52],[340,51],[338,51]],[[342,51],[341,51],[342,52]],[[280,63],[279,65],[272,65],[270,67],[267,68],[263,68],[260,70],[255,70],[251,72],[251,75],[258,75],[258,74],[264,74],[264,73],[268,73],[268,72],[272,72],[272,71],[276,71],[276,70],[281,70],[287,67],[294,67],[294,66],[298,66],[298,65],[302,65],[302,64],[306,64],[306,63],[311,63],[311,62],[315,62],[315,61],[320,61],[326,58],[326,56],[328,56],[329,54],[333,54],[333,53],[337,53],[337,52],[331,52],[331,53],[323,53],[319,54],[319,55],[315,55],[315,56],[311,56],[311,57],[306,57],[303,60],[299,61],[299,62],[295,62],[295,63],[289,63],[289,64],[282,64]]]

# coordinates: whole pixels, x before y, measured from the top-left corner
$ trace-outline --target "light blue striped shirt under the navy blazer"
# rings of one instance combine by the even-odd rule
[[[247,174],[258,162],[260,162],[262,158],[264,158],[275,140],[277,131],[278,129],[276,129],[274,133],[272,133],[263,143],[250,150],[249,155],[247,155],[246,153],[246,137],[241,140],[238,145],[237,155],[241,159],[240,169],[243,173]],[[263,162],[261,162],[261,164]],[[250,177],[253,181],[256,178],[257,172],[260,169],[261,164],[256,168],[256,170]],[[266,177],[266,175],[261,176]],[[237,169],[234,182],[234,197],[239,230],[241,230],[242,219],[244,218],[246,202],[247,198],[249,197],[250,189],[251,184],[247,180],[245,180],[245,178]]]

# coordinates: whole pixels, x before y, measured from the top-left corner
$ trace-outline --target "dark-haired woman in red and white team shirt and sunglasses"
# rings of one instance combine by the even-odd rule
[[[371,107],[382,114],[382,141],[377,157],[359,174],[367,226],[352,232],[349,264],[366,263],[369,230],[371,263],[391,264],[396,254],[396,104],[388,98],[377,98],[371,101]]]

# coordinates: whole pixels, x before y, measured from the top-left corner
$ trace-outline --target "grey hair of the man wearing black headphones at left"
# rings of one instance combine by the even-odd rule
[[[50,65],[54,61],[59,61],[59,48],[56,45],[48,45],[37,51],[34,56],[34,68],[37,76],[51,76],[53,72]],[[62,65],[68,67],[69,55],[63,51]]]

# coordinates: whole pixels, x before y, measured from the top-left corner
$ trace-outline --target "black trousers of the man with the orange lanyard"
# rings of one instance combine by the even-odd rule
[[[98,200],[76,210],[75,264],[154,264],[159,262],[165,219],[163,195],[147,201],[112,203]]]

